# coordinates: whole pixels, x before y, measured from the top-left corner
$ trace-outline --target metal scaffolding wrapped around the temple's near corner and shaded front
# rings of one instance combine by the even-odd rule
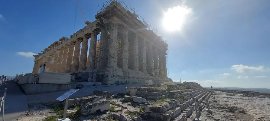
[[[105,1],[95,18],[96,31],[99,33],[97,38],[99,39],[96,46],[96,59],[90,60],[91,63],[95,63],[95,67],[90,68],[90,73],[95,75],[100,71],[106,71],[103,70],[106,67],[119,67],[123,71],[129,69],[134,70],[134,72],[148,72],[152,75],[149,70],[154,70],[153,57],[151,60],[146,59],[148,56],[154,55],[151,55],[151,51],[148,50],[149,43],[145,39],[147,37],[159,38],[161,43],[167,45],[167,41],[158,33],[153,24],[146,18],[139,16],[134,8],[130,8],[121,0]],[[136,34],[137,30],[144,31],[140,33],[142,36]],[[168,71],[167,53],[168,45],[164,56]],[[135,68],[135,65],[138,65],[138,68]],[[138,73],[135,74],[138,75]],[[90,81],[96,80],[93,77]]]

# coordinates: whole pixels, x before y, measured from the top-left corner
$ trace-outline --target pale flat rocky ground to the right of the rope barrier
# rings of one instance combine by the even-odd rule
[[[270,121],[270,99],[217,92],[217,102],[210,98],[210,110],[201,112],[202,121]],[[244,110],[245,113],[239,113]]]

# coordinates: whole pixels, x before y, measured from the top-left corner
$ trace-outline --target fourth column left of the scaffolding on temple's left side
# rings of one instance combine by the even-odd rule
[[[67,55],[67,64],[66,64],[66,69],[65,69],[66,73],[71,72],[74,45],[75,45],[74,42],[71,42],[69,44],[68,55]]]

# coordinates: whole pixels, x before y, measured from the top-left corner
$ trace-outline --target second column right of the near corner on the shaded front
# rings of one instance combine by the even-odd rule
[[[123,70],[128,70],[128,30],[124,28],[122,30],[122,62],[123,62]]]

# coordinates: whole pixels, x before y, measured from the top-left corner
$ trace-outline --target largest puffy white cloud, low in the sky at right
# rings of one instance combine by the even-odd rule
[[[259,67],[249,67],[249,66],[245,66],[245,65],[233,65],[231,66],[231,70],[235,70],[238,73],[243,73],[245,70],[251,70],[251,71],[262,71],[264,66],[259,66]]]

